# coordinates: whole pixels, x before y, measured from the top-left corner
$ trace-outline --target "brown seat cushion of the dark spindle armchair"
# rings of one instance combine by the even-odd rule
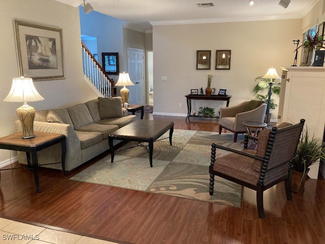
[[[254,150],[244,150],[246,153],[254,154]],[[236,179],[256,185],[259,172],[252,169],[254,159],[242,156],[240,154],[228,154],[216,158],[213,170]]]

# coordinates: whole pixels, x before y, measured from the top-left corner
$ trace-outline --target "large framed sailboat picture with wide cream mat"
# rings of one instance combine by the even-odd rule
[[[33,80],[64,79],[62,29],[14,21],[19,75]]]

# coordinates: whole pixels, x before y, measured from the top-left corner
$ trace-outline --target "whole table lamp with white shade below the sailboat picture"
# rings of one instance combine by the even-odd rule
[[[24,104],[17,108],[17,115],[22,126],[22,138],[32,138],[34,135],[35,109],[27,102],[42,101],[44,98],[37,92],[31,78],[12,79],[12,86],[5,102],[23,102]]]

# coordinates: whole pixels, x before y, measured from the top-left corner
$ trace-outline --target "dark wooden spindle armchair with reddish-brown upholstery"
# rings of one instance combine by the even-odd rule
[[[291,200],[291,160],[296,155],[304,123],[305,119],[301,119],[296,125],[283,123],[278,127],[261,131],[256,151],[247,149],[248,135],[245,135],[243,150],[212,143],[209,167],[210,195],[213,195],[214,175],[255,190],[258,215],[261,219],[265,218],[263,207],[265,190],[284,180],[286,198]],[[216,158],[216,148],[232,153]]]

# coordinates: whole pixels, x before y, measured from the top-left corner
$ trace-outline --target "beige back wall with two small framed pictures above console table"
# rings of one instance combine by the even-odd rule
[[[252,99],[255,77],[272,66],[281,74],[280,66],[293,64],[293,40],[300,36],[301,19],[153,26],[155,113],[186,114],[184,96],[190,89],[205,89],[207,74],[214,76],[211,87],[217,92],[227,89],[230,105]],[[223,49],[231,49],[231,70],[215,70],[215,52]],[[211,50],[211,70],[196,70],[197,50]],[[161,81],[161,76],[168,81]],[[221,101],[193,103],[196,110],[210,106],[216,112],[219,105],[225,106]],[[272,113],[276,118],[277,111]]]

